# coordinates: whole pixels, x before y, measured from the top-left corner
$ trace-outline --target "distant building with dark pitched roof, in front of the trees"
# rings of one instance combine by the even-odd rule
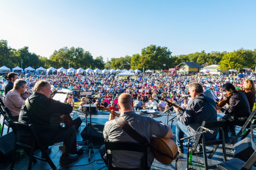
[[[177,65],[177,67],[180,69],[178,71],[179,73],[199,73],[199,71],[203,68],[202,65],[198,64],[197,62],[182,62]]]

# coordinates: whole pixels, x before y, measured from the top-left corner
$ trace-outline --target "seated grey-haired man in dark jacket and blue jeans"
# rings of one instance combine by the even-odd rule
[[[176,144],[179,153],[184,152],[183,141],[181,141],[184,138],[184,134],[187,136],[194,135],[203,121],[217,121],[216,104],[212,98],[202,94],[202,86],[196,82],[191,83],[189,85],[189,93],[192,101],[188,104],[184,113],[181,113],[178,107],[173,107],[177,115]],[[215,134],[207,132],[205,134],[207,140],[216,138],[218,128],[212,130],[215,131]]]

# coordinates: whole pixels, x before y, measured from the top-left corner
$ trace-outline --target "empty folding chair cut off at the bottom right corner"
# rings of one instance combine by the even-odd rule
[[[255,170],[253,164],[256,162],[256,151],[245,162],[239,158],[233,158],[220,164],[217,164],[217,168],[221,170]]]

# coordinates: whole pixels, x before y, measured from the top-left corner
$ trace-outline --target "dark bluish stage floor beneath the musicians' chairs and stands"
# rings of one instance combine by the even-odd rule
[[[75,111],[73,111],[75,112]],[[82,144],[83,138],[81,137],[81,132],[86,126],[86,114],[84,113],[79,113],[81,119],[83,120],[82,125],[80,128],[76,131],[76,136],[77,136],[77,141],[78,144]],[[139,114],[139,113],[138,113]],[[159,113],[161,117],[154,118],[158,121],[162,121],[163,123],[167,124],[167,115],[162,115],[162,113]],[[168,119],[172,118],[173,115],[175,116],[175,113],[171,113],[168,117]],[[148,116],[148,115],[145,115]],[[223,116],[222,113],[218,114],[218,118]],[[92,122],[93,123],[99,123],[104,125],[106,121],[108,121],[109,118],[109,112],[98,112],[97,114],[92,115]],[[2,122],[2,117],[1,117],[1,122]],[[176,120],[174,119],[173,122],[173,132],[175,132],[175,122]],[[168,122],[170,125],[170,122]],[[238,132],[241,127],[237,126],[236,131]],[[6,128],[4,129],[4,134],[6,133]],[[53,160],[54,164],[57,166],[57,169],[107,169],[105,166],[103,160],[101,160],[100,154],[99,154],[99,147],[101,145],[97,143],[93,143],[93,154],[91,155],[91,160],[88,161],[89,158],[89,153],[88,153],[88,145],[83,145],[84,152],[80,155],[80,159],[77,162],[71,163],[71,164],[66,164],[62,165],[59,163],[59,159],[61,156],[61,151],[59,150],[60,144],[56,144],[52,146],[52,152],[49,154],[50,158]],[[207,149],[212,149],[211,147],[207,147]],[[186,169],[187,167],[187,149],[184,150],[184,154],[180,155],[180,159],[177,161],[176,167],[177,169]],[[231,159],[234,157],[234,146],[233,145],[228,145],[226,144],[226,153],[227,153],[227,159]],[[38,155],[41,155],[40,151],[36,153]],[[223,157],[222,157],[222,145],[219,146],[217,149],[216,153],[213,155],[212,159],[208,159],[208,164],[218,164],[223,162]],[[29,158],[26,154],[24,154],[23,157],[18,157],[15,162],[15,168],[16,169],[28,169],[28,163],[29,163]],[[204,169],[201,165],[203,165],[203,156],[202,155],[193,155],[193,169]],[[10,162],[5,161],[0,163],[0,169],[8,169],[10,165]],[[51,169],[50,166],[48,165],[47,162],[43,162],[38,160],[37,163],[33,163],[32,169]],[[162,163],[159,163],[157,160],[155,160],[151,166],[151,169],[175,169],[175,160],[172,161],[170,165],[164,165]]]

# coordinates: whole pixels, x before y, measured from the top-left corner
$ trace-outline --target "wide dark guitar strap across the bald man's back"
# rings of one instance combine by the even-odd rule
[[[134,139],[139,144],[146,144],[150,149],[157,151],[158,153],[168,157],[169,159],[176,159],[176,157],[172,158],[169,155],[162,153],[153,145],[148,143],[147,139],[143,137],[140,133],[138,133],[122,116],[117,118],[116,122],[132,139]]]

